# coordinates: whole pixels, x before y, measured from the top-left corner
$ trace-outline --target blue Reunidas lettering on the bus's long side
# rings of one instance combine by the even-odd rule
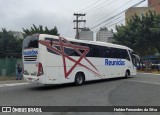
[[[121,59],[117,59],[116,61],[105,59],[105,65],[125,65],[125,61],[122,61]]]

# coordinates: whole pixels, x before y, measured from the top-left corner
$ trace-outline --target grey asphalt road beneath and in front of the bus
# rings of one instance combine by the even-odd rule
[[[160,106],[160,76],[137,74],[129,79],[87,82],[83,86],[35,85],[0,87],[0,106]],[[2,113],[0,113],[1,115]],[[34,114],[34,113],[33,113]],[[44,113],[43,113],[44,114]],[[46,113],[49,115],[158,115],[160,113]]]

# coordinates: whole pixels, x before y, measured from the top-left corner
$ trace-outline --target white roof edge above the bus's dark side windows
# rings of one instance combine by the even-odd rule
[[[45,37],[59,39],[58,36],[48,35],[48,34],[39,34],[39,36],[40,36],[40,38],[39,38],[40,40],[41,40],[42,38],[45,38]],[[73,42],[80,42],[80,43],[87,43],[87,44],[93,44],[93,45],[115,47],[115,48],[128,49],[128,50],[133,51],[131,48],[129,48],[129,47],[127,47],[127,46],[118,45],[118,44],[112,44],[112,43],[106,43],[106,42],[99,42],[99,41],[89,41],[89,40],[77,40],[77,39],[67,38],[67,37],[64,37],[64,38],[67,39],[67,40],[69,40],[69,41],[73,41]]]

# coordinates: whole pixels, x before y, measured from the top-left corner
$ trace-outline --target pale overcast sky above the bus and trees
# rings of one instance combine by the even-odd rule
[[[93,28],[140,1],[142,0],[0,0],[0,28],[22,32],[22,28],[30,28],[33,24],[49,29],[56,26],[61,36],[73,38],[74,13],[86,14],[79,17],[86,20],[80,27]],[[138,6],[147,6],[147,0]],[[104,26],[114,29],[116,24],[124,24],[123,19],[124,13],[93,31],[96,33]]]

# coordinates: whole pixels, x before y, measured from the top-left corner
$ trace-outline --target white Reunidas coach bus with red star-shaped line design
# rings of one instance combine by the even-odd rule
[[[22,54],[24,79],[32,83],[81,85],[136,75],[137,56],[122,45],[35,34],[24,39]]]

